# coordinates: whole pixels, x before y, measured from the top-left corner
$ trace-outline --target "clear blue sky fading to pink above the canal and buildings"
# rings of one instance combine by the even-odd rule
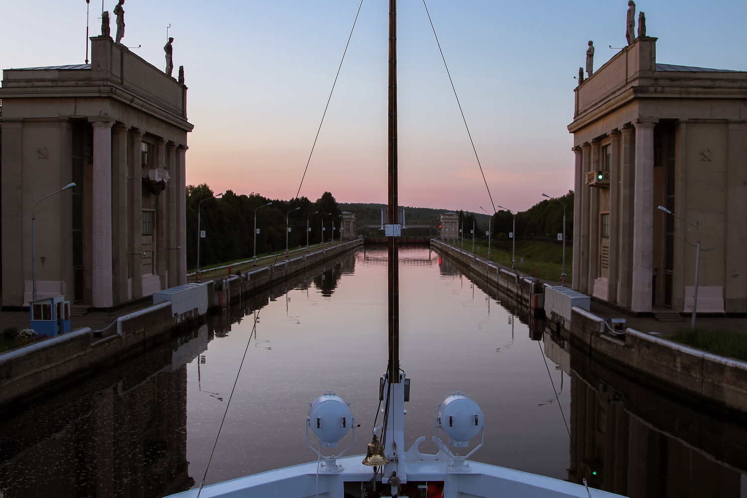
[[[115,0],[105,1],[114,10]],[[185,66],[187,183],[296,194],[358,0],[126,0],[123,43]],[[429,0],[495,204],[523,211],[573,188],[574,87],[622,47],[627,0]],[[0,0],[0,68],[83,63],[84,0]],[[102,2],[91,0],[90,33]],[[662,63],[747,70],[747,3],[648,0]],[[300,195],[386,202],[387,0],[365,0]],[[490,211],[421,0],[400,0],[400,203]],[[112,31],[114,34],[114,29]],[[176,75],[176,69],[174,74]]]

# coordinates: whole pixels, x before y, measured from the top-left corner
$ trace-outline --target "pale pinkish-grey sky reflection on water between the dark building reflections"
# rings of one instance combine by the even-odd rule
[[[366,248],[326,271],[305,284],[284,284],[285,299],[246,303],[240,314],[218,319],[223,337],[208,345],[200,365],[203,390],[225,396],[247,342],[255,346],[244,359],[207,482],[315,458],[305,449],[304,420],[308,402],[324,390],[351,403],[361,430],[373,425],[386,366],[386,250]],[[554,391],[542,346],[530,340],[520,319],[528,319],[525,311],[507,311],[492,294],[437,252],[403,248],[400,358],[412,378],[407,444],[433,435],[438,402],[464,390],[489,417],[491,443],[475,454],[478,460],[563,478],[568,435],[557,405],[545,403]],[[187,455],[199,481],[225,406],[193,392],[196,373],[190,366]],[[565,393],[560,402],[568,408]],[[367,440],[359,435],[352,452],[365,452]]]

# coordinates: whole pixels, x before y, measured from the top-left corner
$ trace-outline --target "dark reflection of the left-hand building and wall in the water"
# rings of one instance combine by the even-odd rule
[[[187,474],[187,363],[202,326],[9,416],[0,425],[5,497],[161,497]]]

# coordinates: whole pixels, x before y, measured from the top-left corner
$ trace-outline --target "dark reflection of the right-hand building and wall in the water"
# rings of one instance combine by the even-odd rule
[[[545,345],[571,373],[568,480],[631,498],[747,496],[744,414],[651,388],[560,337]]]

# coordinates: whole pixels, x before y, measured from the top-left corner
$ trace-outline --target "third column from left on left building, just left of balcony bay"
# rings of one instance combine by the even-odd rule
[[[130,158],[129,175],[129,211],[128,221],[130,227],[130,294],[131,299],[143,297],[143,256],[140,255],[143,241],[143,161],[141,149],[143,146],[143,134],[140,131],[131,131],[132,157]]]

